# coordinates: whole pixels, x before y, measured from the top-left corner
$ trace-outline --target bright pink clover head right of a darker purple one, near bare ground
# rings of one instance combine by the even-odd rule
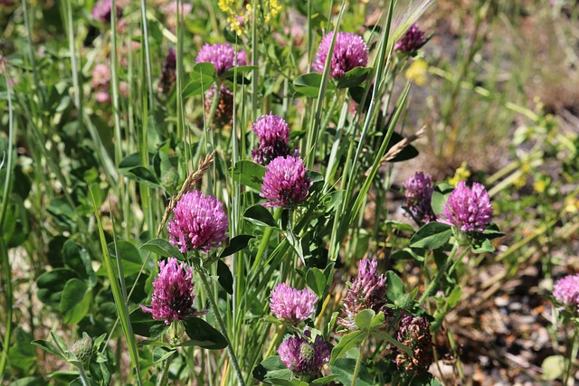
[[[438,221],[452,225],[460,231],[484,231],[492,217],[489,193],[482,184],[472,184],[469,189],[461,181],[444,204]]]

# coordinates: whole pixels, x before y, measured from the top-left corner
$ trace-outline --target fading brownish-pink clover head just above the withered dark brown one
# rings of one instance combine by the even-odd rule
[[[358,276],[352,282],[344,298],[346,318],[339,319],[340,325],[347,328],[355,328],[354,318],[364,309],[372,309],[376,313],[382,311],[389,315],[386,307],[386,278],[378,276],[376,268],[378,261],[375,259],[363,259],[360,261]]]

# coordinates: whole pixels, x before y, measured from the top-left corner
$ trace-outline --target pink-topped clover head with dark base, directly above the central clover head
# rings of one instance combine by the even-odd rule
[[[268,165],[278,156],[289,155],[289,127],[283,118],[269,114],[253,122],[253,132],[259,144],[252,150],[253,161]]]

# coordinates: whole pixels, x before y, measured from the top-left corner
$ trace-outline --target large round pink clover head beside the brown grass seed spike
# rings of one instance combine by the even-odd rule
[[[185,193],[173,214],[175,218],[169,221],[167,231],[171,243],[180,247],[183,253],[193,249],[209,252],[210,248],[219,247],[227,240],[229,220],[223,212],[223,204],[212,195],[204,196],[199,191]]]

